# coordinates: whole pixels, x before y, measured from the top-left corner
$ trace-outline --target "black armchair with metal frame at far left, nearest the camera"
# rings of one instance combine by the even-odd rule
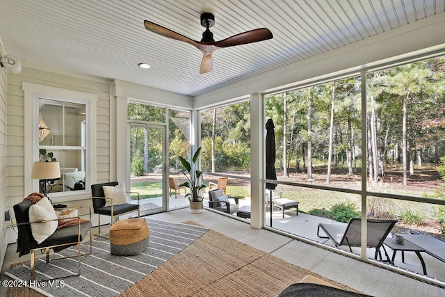
[[[49,263],[49,249],[52,248],[56,252],[62,250],[63,248],[67,248],[69,246],[77,245],[77,252],[74,255],[70,255],[67,257],[56,257],[51,259],[65,259],[70,257],[78,257],[79,262],[79,271],[75,275],[81,275],[81,256],[90,255],[92,252],[91,246],[91,207],[88,206],[90,220],[83,221],[79,216],[74,218],[74,223],[70,224],[69,227],[63,227],[60,229],[56,229],[56,231],[51,234],[47,239],[38,243],[34,237],[33,232],[31,231],[31,224],[42,224],[48,223],[55,220],[64,220],[65,219],[54,219],[54,220],[38,220],[30,223],[29,219],[29,208],[33,205],[31,200],[23,200],[22,202],[14,205],[14,213],[15,219],[17,220],[17,224],[12,225],[13,227],[17,226],[17,252],[19,252],[19,257],[22,255],[26,255],[31,253],[31,280],[35,278],[35,251],[36,250],[45,250],[46,251],[46,262]],[[79,207],[82,208],[82,207]],[[83,223],[82,223],[83,222]],[[86,236],[90,233],[90,252],[82,253],[81,252],[81,241],[86,239]],[[70,275],[74,276],[74,275]]]

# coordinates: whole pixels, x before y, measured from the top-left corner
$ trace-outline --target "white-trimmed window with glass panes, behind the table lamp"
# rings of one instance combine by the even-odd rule
[[[60,179],[47,186],[51,198],[66,201],[67,195],[88,193],[96,177],[97,95],[33,83],[22,88],[25,106],[32,106],[24,111],[25,193],[40,191],[39,181],[29,178],[33,162],[54,159],[60,163]],[[44,138],[41,122],[49,128]]]

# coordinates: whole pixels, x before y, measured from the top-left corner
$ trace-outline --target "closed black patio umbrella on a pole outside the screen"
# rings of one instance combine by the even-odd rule
[[[266,179],[277,180],[277,172],[275,172],[275,125],[273,120],[268,119],[266,122]],[[272,190],[275,190],[277,184],[266,183],[266,189],[270,190],[270,227],[272,227]]]

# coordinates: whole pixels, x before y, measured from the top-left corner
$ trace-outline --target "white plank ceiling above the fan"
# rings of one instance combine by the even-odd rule
[[[444,10],[445,0],[1,0],[0,41],[22,67],[194,96]],[[215,15],[215,40],[261,27],[274,38],[218,49],[213,71],[200,74],[198,49],[143,25],[200,40],[204,12]]]

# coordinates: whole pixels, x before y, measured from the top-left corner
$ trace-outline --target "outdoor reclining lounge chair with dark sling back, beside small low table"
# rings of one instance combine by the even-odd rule
[[[367,234],[368,238],[366,240],[367,246],[369,248],[375,248],[374,259],[380,256],[382,260],[382,254],[380,248],[383,248],[387,260],[385,262],[391,262],[385,246],[383,246],[383,241],[387,238],[389,232],[391,232],[394,225],[396,225],[397,220],[378,220],[369,218],[367,220]],[[320,230],[323,230],[327,236],[321,236]],[[338,236],[337,236],[338,235]],[[334,243],[335,247],[348,245],[350,252],[353,252],[352,246],[361,246],[361,236],[362,235],[362,219],[361,218],[351,218],[348,225],[339,224],[318,224],[317,236],[320,238],[330,239]]]

